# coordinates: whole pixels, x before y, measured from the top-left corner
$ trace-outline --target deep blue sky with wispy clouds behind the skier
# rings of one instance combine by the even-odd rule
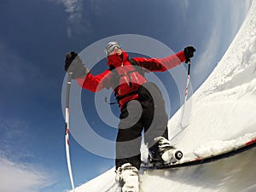
[[[197,49],[191,71],[196,90],[224,55],[251,2],[3,0],[0,4],[1,191],[70,189],[61,109],[67,51],[80,52],[102,38],[121,34],[148,36],[175,52],[192,44]],[[103,49],[97,51],[102,53]],[[107,69],[103,62],[94,73]],[[175,84],[165,80],[163,83],[167,89],[173,89],[172,114],[179,107],[177,89]],[[98,134],[114,140],[116,130],[97,117],[94,102],[90,102],[93,99],[93,93],[83,90],[82,105],[86,113],[90,112],[87,117],[90,124]],[[113,111],[117,113],[118,109],[113,107]],[[114,165],[114,160],[91,154],[73,137],[71,145],[76,185]],[[91,145],[96,143],[92,141]]]

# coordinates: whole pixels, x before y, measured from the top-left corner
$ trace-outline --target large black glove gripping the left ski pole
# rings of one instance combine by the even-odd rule
[[[74,51],[66,54],[65,71],[72,73],[72,79],[82,78],[90,72],[87,67],[84,67],[79,55]]]

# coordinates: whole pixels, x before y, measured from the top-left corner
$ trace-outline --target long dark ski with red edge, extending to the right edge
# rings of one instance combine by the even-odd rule
[[[197,158],[197,157],[187,158],[187,159],[179,160],[177,162],[173,162],[169,164],[154,165],[150,163],[143,163],[142,168],[156,170],[156,169],[174,169],[174,168],[185,167],[185,166],[196,166],[196,165],[205,164],[205,163],[209,163],[216,160],[221,160],[236,154],[240,154],[254,147],[256,147],[256,137],[254,137],[251,141],[244,143],[238,148],[233,148],[229,151],[224,151],[219,154],[208,155],[201,158]]]

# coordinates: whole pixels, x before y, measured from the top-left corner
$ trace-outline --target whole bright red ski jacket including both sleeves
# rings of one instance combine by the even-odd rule
[[[143,67],[144,73],[149,72],[165,72],[172,67],[176,67],[186,60],[183,51],[177,54],[167,56],[166,58],[132,58],[137,61],[139,67]],[[129,61],[129,55],[123,51],[122,55],[108,56],[108,66],[114,68],[119,74],[119,84],[113,83],[113,70],[106,70],[101,74],[93,75],[88,73],[86,77],[77,79],[81,87],[93,92],[102,90],[103,88],[112,88],[115,96],[118,98],[119,107],[122,108],[126,102],[136,100],[138,98],[138,88],[147,82],[142,73],[135,70]]]

